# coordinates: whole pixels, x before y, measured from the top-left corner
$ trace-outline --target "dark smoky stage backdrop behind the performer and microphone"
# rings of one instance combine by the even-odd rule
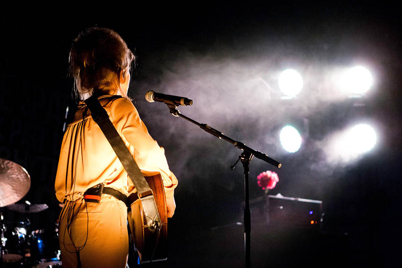
[[[30,215],[35,228],[59,214],[54,177],[72,80],[72,40],[91,26],[109,27],[137,56],[129,96],[152,137],[166,150],[179,185],[170,219],[169,267],[242,267],[243,174],[229,167],[240,153],[197,126],[174,118],[148,90],[185,96],[180,111],[280,161],[254,158],[250,197],[264,196],[256,176],[278,173],[270,194],[323,201],[319,231],[252,223],[252,267],[401,263],[401,16],[396,6],[298,4],[128,4],[108,8],[25,6],[3,9],[0,57],[0,157],[25,167],[23,200],[50,208]],[[374,85],[361,99],[336,98],[325,72],[367,66]],[[294,102],[278,96],[275,73],[302,71]],[[253,77],[271,85],[267,89]],[[258,79],[257,79],[258,80]],[[272,83],[271,83],[272,82]],[[358,159],[330,162],[324,144],[356,120],[372,122],[377,145]],[[293,154],[279,145],[285,122],[301,126]],[[22,201],[23,201],[22,200]],[[10,221],[25,218],[5,208]]]

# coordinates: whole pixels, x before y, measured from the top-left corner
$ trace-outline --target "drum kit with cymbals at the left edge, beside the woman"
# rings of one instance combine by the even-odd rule
[[[46,204],[17,203],[29,191],[30,176],[20,165],[0,158],[0,267],[62,267],[57,226],[35,229],[29,215],[48,209]],[[11,211],[24,220],[7,221],[2,212]]]

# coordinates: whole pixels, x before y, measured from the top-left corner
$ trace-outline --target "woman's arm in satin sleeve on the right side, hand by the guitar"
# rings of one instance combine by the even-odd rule
[[[137,109],[126,98],[118,98],[112,102],[110,115],[141,172],[145,176],[161,174],[168,212],[174,212],[176,207],[174,189],[177,186],[177,178],[169,170],[164,148],[151,137]]]

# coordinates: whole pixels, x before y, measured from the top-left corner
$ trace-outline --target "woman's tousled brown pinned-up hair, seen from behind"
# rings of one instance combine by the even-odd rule
[[[120,72],[134,59],[126,42],[115,31],[92,27],[81,32],[69,55],[69,74],[74,78],[76,96],[82,99],[85,95],[115,94],[120,88]],[[110,92],[111,88],[115,91]]]

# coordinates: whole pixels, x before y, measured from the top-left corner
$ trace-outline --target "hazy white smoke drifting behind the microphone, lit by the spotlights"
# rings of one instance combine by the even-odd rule
[[[219,45],[209,51],[169,47],[143,58],[147,60],[139,61],[138,79],[134,77],[131,82],[130,93],[151,135],[165,147],[170,168],[181,181],[202,174],[212,185],[232,189],[234,185],[226,178],[234,173],[227,170],[241,151],[173,117],[165,104],[146,102],[144,96],[149,90],[193,99],[192,106],[178,107],[183,115],[282,162],[283,167],[277,171],[254,158],[251,176],[275,170],[280,179],[282,175],[289,182],[302,177],[306,182],[298,189],[299,195],[308,191],[306,187],[317,187],[317,181],[329,176],[338,164],[344,164],[331,155],[328,144],[336,137],[328,135],[339,126],[331,118],[336,110],[331,103],[347,98],[339,93],[337,84],[345,67],[303,59],[272,45],[251,51]],[[302,92],[293,99],[282,99],[277,85],[279,74],[287,68],[297,70],[303,78]],[[341,111],[342,117],[346,113]],[[311,122],[317,117],[318,122]],[[294,125],[302,135],[301,151],[294,155],[280,146],[279,131],[286,124]],[[283,180],[277,188],[281,183],[286,185]]]

